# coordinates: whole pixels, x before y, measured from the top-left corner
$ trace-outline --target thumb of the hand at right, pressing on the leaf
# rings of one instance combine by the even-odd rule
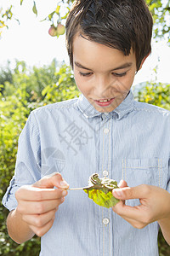
[[[145,194],[147,194],[146,190],[148,189],[144,190],[143,186],[145,187],[147,185],[139,185],[133,188],[125,187],[121,189],[113,189],[112,194],[120,200],[144,198]]]

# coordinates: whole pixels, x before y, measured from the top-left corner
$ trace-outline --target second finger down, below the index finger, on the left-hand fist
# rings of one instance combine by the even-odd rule
[[[20,214],[42,214],[55,210],[64,201],[64,197],[51,201],[20,201],[17,209]]]

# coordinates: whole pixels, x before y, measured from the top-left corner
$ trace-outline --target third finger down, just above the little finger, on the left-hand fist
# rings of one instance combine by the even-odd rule
[[[57,211],[57,209],[50,211],[50,212],[46,212],[43,214],[30,214],[30,215],[23,215],[23,220],[32,226],[35,227],[42,227],[45,224],[48,224],[48,222],[53,218],[55,218],[55,212]]]

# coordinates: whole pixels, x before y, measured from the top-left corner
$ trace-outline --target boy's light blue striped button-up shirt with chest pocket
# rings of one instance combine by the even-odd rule
[[[14,193],[60,172],[71,188],[88,185],[94,172],[128,186],[152,184],[170,191],[170,113],[135,102],[130,91],[111,113],[99,113],[84,96],[34,110],[19,139],[16,169],[3,205],[17,206]],[[166,203],[166,202],[165,202]],[[139,200],[129,200],[135,206]],[[158,224],[138,230],[83,190],[69,191],[41,256],[157,256]]]

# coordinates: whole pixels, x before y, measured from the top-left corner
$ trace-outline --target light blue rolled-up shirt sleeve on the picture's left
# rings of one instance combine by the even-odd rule
[[[39,130],[34,112],[26,121],[19,137],[14,177],[3,196],[3,206],[9,211],[17,207],[15,192],[22,186],[36,183],[41,178],[41,148]]]

